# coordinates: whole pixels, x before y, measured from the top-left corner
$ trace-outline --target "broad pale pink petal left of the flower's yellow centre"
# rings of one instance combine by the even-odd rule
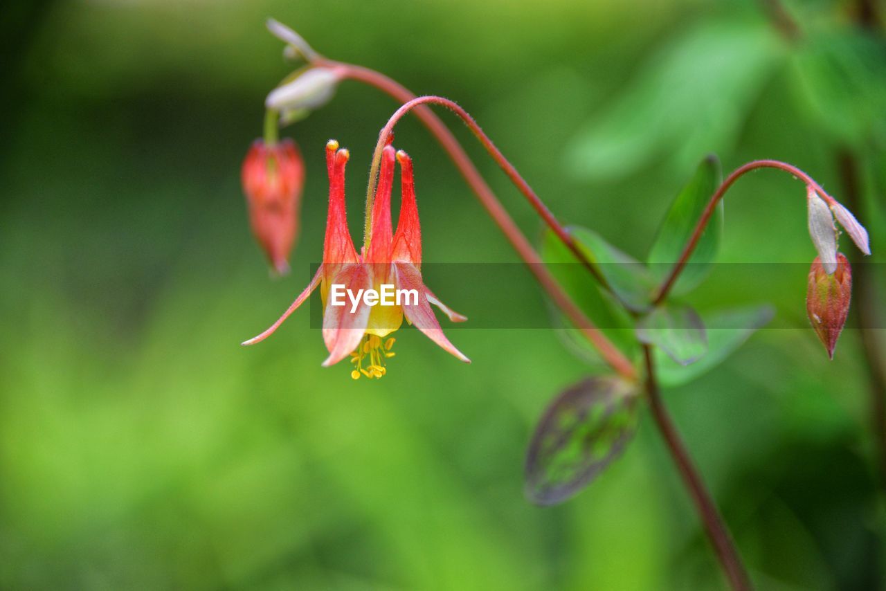
[[[345,265],[332,279],[332,283],[346,285],[354,295],[359,290],[372,287],[369,272],[366,266],[361,264]],[[323,367],[340,362],[360,345],[369,323],[370,311],[371,307],[362,303],[362,298],[354,312],[351,312],[349,298],[345,299],[344,306],[333,306],[332,298],[327,299],[326,308],[323,310],[323,342],[329,349],[330,356],[323,362]]]

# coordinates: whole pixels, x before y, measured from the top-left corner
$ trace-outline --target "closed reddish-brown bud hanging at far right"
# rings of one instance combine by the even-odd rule
[[[852,293],[849,261],[846,261],[843,253],[837,253],[836,260],[835,271],[828,274],[820,258],[815,257],[809,270],[809,288],[806,292],[806,314],[831,359],[834,359],[836,339],[849,315]]]

